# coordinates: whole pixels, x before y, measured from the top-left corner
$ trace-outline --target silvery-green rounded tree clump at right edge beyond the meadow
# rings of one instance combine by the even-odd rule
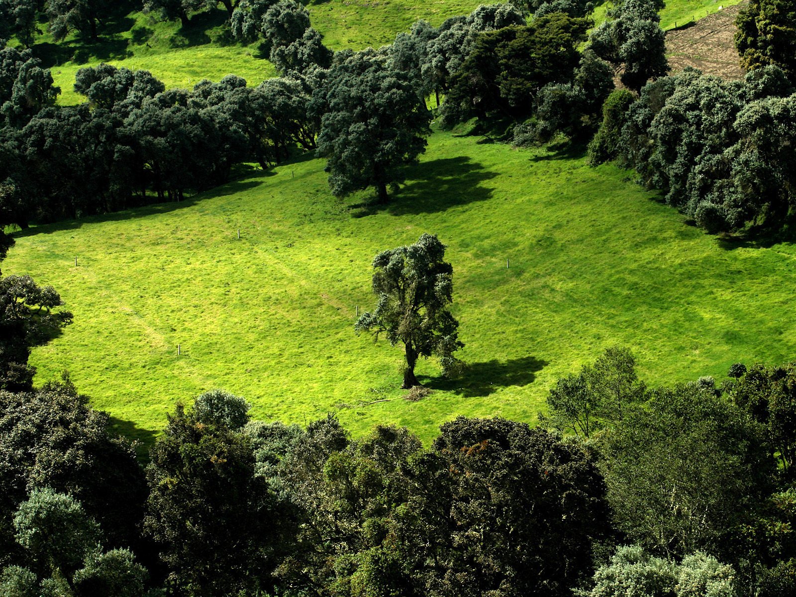
[[[591,161],[618,156],[708,232],[777,231],[796,201],[793,91],[775,66],[743,81],[686,69],[650,83],[630,105],[614,96]]]

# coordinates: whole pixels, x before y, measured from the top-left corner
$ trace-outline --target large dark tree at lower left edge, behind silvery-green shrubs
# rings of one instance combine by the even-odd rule
[[[80,500],[108,547],[139,548],[143,471],[131,443],[87,402],[68,378],[33,392],[0,392],[0,531],[29,488],[50,487]]]

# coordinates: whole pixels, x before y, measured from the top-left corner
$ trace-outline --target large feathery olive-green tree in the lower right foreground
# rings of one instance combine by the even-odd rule
[[[603,435],[602,451],[618,529],[666,556],[738,556],[736,533],[775,470],[759,424],[712,383],[656,390]]]

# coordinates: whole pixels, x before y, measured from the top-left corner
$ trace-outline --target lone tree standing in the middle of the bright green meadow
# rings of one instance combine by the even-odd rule
[[[453,300],[453,267],[443,261],[444,256],[445,245],[424,232],[415,244],[380,252],[373,259],[376,309],[362,314],[355,328],[372,331],[375,339],[387,334],[391,345],[404,344],[401,388],[419,385],[418,357],[439,357],[444,375],[461,365],[453,356],[464,346],[458,341],[458,322],[446,308]]]

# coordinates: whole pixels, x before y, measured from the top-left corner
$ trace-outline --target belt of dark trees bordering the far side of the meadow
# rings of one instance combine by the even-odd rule
[[[146,10],[187,18],[216,4],[148,0]],[[234,37],[259,39],[283,76],[256,88],[228,76],[166,90],[149,72],[100,65],[78,72],[75,89],[87,101],[75,107],[55,105],[49,70],[8,46],[0,50],[0,224],[179,200],[227,181],[240,164],[267,168],[297,148],[329,158],[335,194],[373,186],[386,201],[387,186],[424,150],[431,96],[443,126],[476,118],[519,146],[593,137],[592,163],[634,168],[709,232],[782,232],[796,171],[794,27],[782,16],[791,4],[751,2],[739,15],[743,81],[666,76],[656,0],[618,2],[589,35],[588,3],[480,6],[439,27],[417,21],[392,45],[358,53],[327,49],[294,0],[224,2]],[[0,45],[11,36],[29,43],[29,15],[41,9],[0,2]],[[57,14],[91,36],[86,24],[102,21],[103,10],[103,2],[47,4],[56,37]],[[625,88],[614,90],[615,76]]]

